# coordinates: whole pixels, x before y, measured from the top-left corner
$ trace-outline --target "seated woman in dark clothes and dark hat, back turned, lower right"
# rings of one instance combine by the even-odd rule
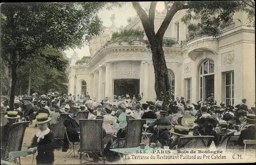
[[[201,117],[195,121],[198,126],[194,127],[194,136],[214,136],[214,143],[218,144],[217,133],[214,128],[217,126],[218,121],[211,117]]]

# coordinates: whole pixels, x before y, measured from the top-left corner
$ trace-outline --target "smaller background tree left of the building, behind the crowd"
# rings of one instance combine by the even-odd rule
[[[16,89],[19,90],[18,93],[28,89],[29,69],[31,69],[31,90],[33,92],[42,94],[47,93],[49,89],[54,89],[60,93],[67,93],[67,87],[63,85],[68,82],[67,71],[58,70],[55,68],[54,63],[48,63],[48,56],[56,57],[56,61],[63,65],[57,68],[66,69],[68,60],[65,59],[60,51],[55,49],[45,49],[41,53],[44,55],[38,58],[30,57],[24,65],[18,67],[16,85]]]

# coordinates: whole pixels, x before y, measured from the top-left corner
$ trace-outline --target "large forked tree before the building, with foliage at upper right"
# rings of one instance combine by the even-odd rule
[[[154,20],[157,2],[151,3],[148,13],[141,8],[139,2],[132,2],[132,5],[142,22],[145,34],[150,43],[155,70],[155,91],[157,99],[164,101],[164,103],[169,102],[166,98],[169,98],[168,95],[170,95],[170,84],[163,51],[163,36],[175,13],[187,9],[188,12],[184,16],[183,21],[201,19],[201,22],[196,24],[196,26],[201,28],[209,36],[218,36],[232,20],[233,13],[242,11],[246,6],[243,1],[165,2],[167,14],[157,33],[155,33]],[[195,15],[192,15],[192,12]]]

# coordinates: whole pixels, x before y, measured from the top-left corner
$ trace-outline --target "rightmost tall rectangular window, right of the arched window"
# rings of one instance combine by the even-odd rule
[[[234,72],[225,73],[226,79],[226,105],[234,104]]]

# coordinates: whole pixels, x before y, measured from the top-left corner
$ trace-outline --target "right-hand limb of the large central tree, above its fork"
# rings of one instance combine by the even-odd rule
[[[167,30],[170,21],[172,21],[175,13],[177,13],[177,11],[179,10],[183,10],[183,9],[188,9],[189,6],[188,5],[182,5],[180,4],[180,2],[175,1],[173,6],[168,10],[159,30],[157,31],[157,36],[160,38],[163,38],[165,31]]]

